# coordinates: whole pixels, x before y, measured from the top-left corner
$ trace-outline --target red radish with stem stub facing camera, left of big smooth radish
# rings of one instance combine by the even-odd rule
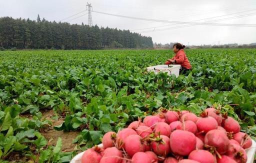
[[[152,150],[161,156],[166,156],[170,151],[170,139],[165,135],[160,135],[151,143]]]

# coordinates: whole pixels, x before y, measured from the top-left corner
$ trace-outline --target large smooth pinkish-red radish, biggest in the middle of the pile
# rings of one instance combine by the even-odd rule
[[[170,148],[174,154],[188,155],[196,147],[196,137],[192,132],[174,130],[170,134]]]

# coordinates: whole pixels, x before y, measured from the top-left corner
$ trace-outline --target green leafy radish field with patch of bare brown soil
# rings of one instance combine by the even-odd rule
[[[187,49],[187,75],[146,72],[170,50],[0,51],[0,162],[68,162],[161,109],[208,106],[256,136],[256,49]]]

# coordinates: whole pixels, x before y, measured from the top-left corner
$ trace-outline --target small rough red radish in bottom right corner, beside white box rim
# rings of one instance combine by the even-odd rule
[[[246,163],[247,154],[246,151],[237,144],[229,144],[226,155],[233,158],[237,163]]]

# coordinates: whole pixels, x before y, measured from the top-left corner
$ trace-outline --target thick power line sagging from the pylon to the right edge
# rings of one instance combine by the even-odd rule
[[[125,15],[118,15],[100,11],[94,11],[96,13],[112,15],[117,17],[124,17],[124,18],[131,18],[131,19],[138,19],[138,20],[145,20],[145,21],[156,21],[156,22],[168,22],[168,23],[177,23],[177,24],[193,24],[193,25],[214,25],[214,26],[247,26],[247,27],[256,27],[256,24],[230,24],[230,23],[205,23],[205,22],[189,22],[189,21],[171,21],[171,20],[160,20],[160,19],[151,19],[151,18],[141,18],[141,17],[132,17],[132,16],[125,16]]]

